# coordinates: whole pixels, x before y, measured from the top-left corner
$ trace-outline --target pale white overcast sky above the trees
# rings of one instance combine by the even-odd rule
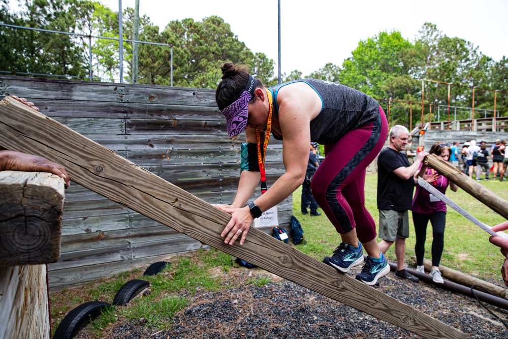
[[[99,0],[118,11],[120,0]],[[134,8],[135,0],[121,0]],[[277,0],[140,0],[162,30],[172,20],[217,15],[253,52],[265,53],[278,72]],[[449,37],[479,46],[494,60],[508,56],[508,0],[280,0],[281,72],[309,75],[327,63],[341,66],[360,40],[398,30],[414,41],[425,22]]]

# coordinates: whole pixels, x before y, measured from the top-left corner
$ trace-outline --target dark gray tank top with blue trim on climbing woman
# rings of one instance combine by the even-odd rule
[[[294,82],[307,83],[321,97],[321,112],[310,121],[310,141],[322,145],[333,144],[347,132],[370,124],[379,115],[377,101],[361,91],[317,79],[295,80],[270,87],[273,94],[273,114],[278,115],[279,111],[279,89]]]

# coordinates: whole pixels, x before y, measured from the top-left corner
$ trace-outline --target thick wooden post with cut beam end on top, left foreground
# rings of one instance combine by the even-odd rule
[[[63,179],[0,172],[0,338],[49,338],[46,263],[60,255]]]

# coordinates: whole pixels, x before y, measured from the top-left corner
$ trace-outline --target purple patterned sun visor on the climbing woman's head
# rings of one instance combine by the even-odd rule
[[[226,117],[228,135],[230,137],[237,136],[247,126],[247,107],[250,99],[254,96],[256,84],[256,79],[249,74],[245,89],[242,90],[240,95],[231,104],[220,110]]]

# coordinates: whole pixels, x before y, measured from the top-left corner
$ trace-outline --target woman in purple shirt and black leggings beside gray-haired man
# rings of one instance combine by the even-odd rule
[[[438,142],[432,145],[429,151],[430,154],[435,154],[442,160],[448,162],[450,159],[451,148],[450,144]],[[437,172],[434,169],[428,168],[426,164],[420,165],[420,171],[415,174],[415,178],[424,174],[434,175],[434,182],[432,183],[442,194],[446,193],[448,185],[450,189],[457,192],[458,187],[453,182]],[[423,256],[425,254],[425,240],[427,235],[427,224],[432,225],[432,269],[430,275],[435,283],[443,284],[444,281],[439,271],[439,262],[444,248],[444,226],[446,224],[446,204],[439,200],[434,195],[430,194],[427,190],[417,186],[415,197],[412,201],[412,217],[415,224],[416,244],[415,253],[417,261],[417,271],[424,273]]]

